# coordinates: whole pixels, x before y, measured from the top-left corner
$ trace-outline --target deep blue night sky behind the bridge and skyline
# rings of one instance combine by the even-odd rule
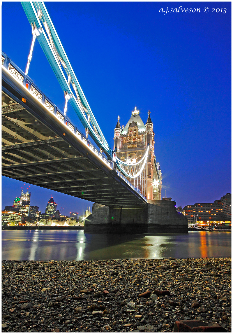
[[[125,125],[136,106],[145,123],[150,109],[162,197],[166,189],[184,207],[231,192],[231,2],[45,4],[110,146],[118,115]],[[171,12],[179,6],[201,12]],[[167,7],[169,12],[160,12]],[[22,70],[31,40],[20,2],[2,2],[2,50]],[[28,75],[64,110],[64,93],[38,41]],[[69,105],[67,116],[83,131]],[[2,178],[3,209],[20,196],[23,184]],[[30,189],[31,205],[42,212],[51,194],[64,214],[83,214],[91,205],[41,187]]]

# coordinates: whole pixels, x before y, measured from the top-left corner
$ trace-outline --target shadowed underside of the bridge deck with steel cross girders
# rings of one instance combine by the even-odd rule
[[[14,85],[3,77],[2,175],[111,207],[147,205],[64,124]]]

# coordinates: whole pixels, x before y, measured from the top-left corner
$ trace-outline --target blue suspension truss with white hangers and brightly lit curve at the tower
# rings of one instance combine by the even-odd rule
[[[31,24],[33,35],[26,74],[32,59],[34,42],[37,38],[64,92],[64,114],[66,115],[69,101],[86,129],[86,137],[88,138],[88,135],[90,135],[100,150],[103,150],[108,158],[113,159],[119,171],[130,179],[137,179],[138,183],[139,178],[143,178],[145,174],[148,149],[144,157],[135,164],[123,163],[117,158],[114,159],[114,152],[109,147],[94,117],[44,3],[31,1],[21,2],[21,4]]]

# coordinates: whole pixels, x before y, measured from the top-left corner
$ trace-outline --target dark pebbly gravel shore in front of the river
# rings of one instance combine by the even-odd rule
[[[231,332],[231,258],[2,261],[3,332]]]

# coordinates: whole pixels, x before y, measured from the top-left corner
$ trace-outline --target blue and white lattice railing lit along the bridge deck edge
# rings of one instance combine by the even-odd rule
[[[70,121],[62,111],[60,111],[49,98],[41,92],[41,90],[34,84],[32,79],[27,76],[3,51],[2,51],[2,67],[4,67],[18,82],[23,85],[28,92],[43,106],[48,110],[48,112],[55,115],[55,117],[66,126],[66,128],[71,131],[76,137],[82,141],[82,143],[96,155],[98,156],[104,164],[109,168],[113,169],[114,162],[106,158],[106,156],[100,151],[99,148],[96,148],[88,138]],[[145,201],[146,198],[140,193],[140,191],[135,188],[119,171],[117,175],[124,180],[138,195],[140,195]]]

